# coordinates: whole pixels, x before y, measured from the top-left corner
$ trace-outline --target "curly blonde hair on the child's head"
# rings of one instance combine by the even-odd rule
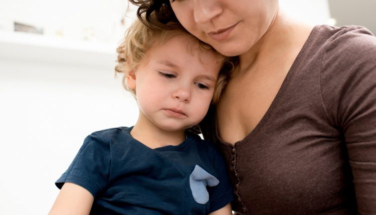
[[[151,47],[151,45],[153,45],[154,42],[163,44],[165,41],[175,35],[187,35],[190,36],[193,41],[200,44],[201,49],[212,50],[217,53],[219,60],[223,62],[212,99],[212,103],[216,103],[229,80],[230,71],[233,69],[234,63],[232,62],[231,58],[220,54],[211,45],[196,38],[194,35],[186,31],[179,23],[171,22],[167,23],[167,25],[169,25],[169,29],[152,29],[146,26],[140,20],[135,20],[134,23],[127,29],[125,37],[116,49],[118,56],[117,65],[115,66],[115,76],[117,76],[117,73],[121,73],[123,75],[123,87],[135,95],[136,92],[134,89],[129,88],[126,83],[126,76],[137,69],[146,51]]]

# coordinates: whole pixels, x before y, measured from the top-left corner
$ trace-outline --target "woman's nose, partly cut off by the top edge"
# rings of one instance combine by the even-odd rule
[[[197,23],[207,23],[222,12],[218,0],[193,0],[194,19]]]

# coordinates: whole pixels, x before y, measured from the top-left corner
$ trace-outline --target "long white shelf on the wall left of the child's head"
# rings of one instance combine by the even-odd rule
[[[113,67],[117,44],[0,31],[0,59]]]

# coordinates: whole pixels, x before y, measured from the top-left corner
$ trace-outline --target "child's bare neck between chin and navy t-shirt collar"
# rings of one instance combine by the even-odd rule
[[[185,139],[185,130],[166,131],[156,126],[136,123],[130,134],[149,148],[178,145]]]

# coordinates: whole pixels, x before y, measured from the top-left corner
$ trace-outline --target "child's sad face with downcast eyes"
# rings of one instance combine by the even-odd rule
[[[215,52],[200,49],[187,35],[175,35],[150,47],[135,73],[127,75],[140,109],[137,123],[166,131],[199,123],[214,94],[222,66],[218,59]]]

